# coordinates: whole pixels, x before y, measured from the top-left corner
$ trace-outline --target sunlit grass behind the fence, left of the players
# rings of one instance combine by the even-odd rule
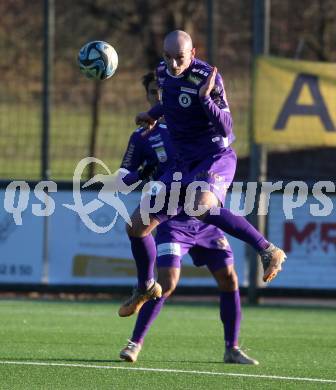
[[[119,166],[130,134],[135,128],[136,109],[103,111],[95,155],[113,172]],[[41,113],[38,107],[0,105],[0,177],[40,179]],[[51,178],[71,180],[76,164],[90,153],[91,119],[88,111],[55,108],[51,115],[49,165]]]

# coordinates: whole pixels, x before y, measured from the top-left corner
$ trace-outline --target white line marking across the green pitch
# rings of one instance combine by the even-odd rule
[[[298,378],[291,376],[277,375],[257,375],[257,374],[238,374],[233,372],[215,372],[215,371],[195,371],[195,370],[175,370],[170,368],[148,368],[148,367],[124,367],[124,366],[99,366],[92,364],[72,364],[72,363],[52,363],[52,362],[20,362],[10,360],[0,360],[0,364],[15,364],[26,366],[55,366],[55,367],[79,367],[79,368],[98,368],[104,370],[130,370],[130,371],[150,371],[150,372],[168,372],[180,374],[198,374],[198,375],[222,375],[233,377],[248,377],[248,378],[265,378],[265,379],[283,379],[288,381],[304,381],[304,382],[323,382],[336,383],[336,379],[320,379],[320,378]]]

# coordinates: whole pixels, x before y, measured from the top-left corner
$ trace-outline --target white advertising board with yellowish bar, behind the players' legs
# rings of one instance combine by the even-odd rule
[[[129,214],[139,204],[141,193],[120,196]],[[97,191],[81,194],[83,204],[97,198]],[[73,203],[71,191],[53,194],[54,214],[49,218],[48,281],[50,284],[133,285],[136,268],[125,232],[125,221],[119,216],[113,228],[104,234],[88,229],[77,213],[63,206]],[[108,204],[90,214],[97,225],[106,226],[115,217]],[[245,245],[229,238],[241,285],[246,285]],[[214,286],[205,267],[197,268],[187,255],[183,259],[181,286]]]

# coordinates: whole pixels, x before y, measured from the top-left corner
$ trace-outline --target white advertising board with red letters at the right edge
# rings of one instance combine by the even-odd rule
[[[303,206],[293,209],[293,219],[286,219],[286,196],[271,197],[268,237],[288,258],[270,287],[336,289],[336,197],[330,199],[330,215],[313,216],[310,206],[318,202],[308,196]]]

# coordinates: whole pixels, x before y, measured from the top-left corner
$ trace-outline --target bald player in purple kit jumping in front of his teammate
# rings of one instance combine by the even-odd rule
[[[206,183],[207,191],[196,192],[194,208],[203,208],[197,218],[252,245],[261,256],[263,280],[269,282],[281,270],[285,253],[245,218],[222,207],[236,169],[236,154],[230,146],[234,141],[232,117],[222,77],[216,67],[195,58],[191,37],[184,31],[169,33],[163,49],[164,62],[157,68],[161,102],[136,117],[137,124],[153,126],[164,115],[177,158],[175,167],[166,171],[161,180],[169,186],[176,172],[181,172],[184,187],[195,180]],[[184,206],[190,214],[188,207]],[[150,214],[149,224],[142,220],[140,208],[131,217],[132,226],[127,232],[139,288],[121,306],[121,316],[137,312],[146,300],[160,296],[160,286],[152,272],[156,250],[151,231],[169,218],[167,214],[166,205],[161,212]]]

